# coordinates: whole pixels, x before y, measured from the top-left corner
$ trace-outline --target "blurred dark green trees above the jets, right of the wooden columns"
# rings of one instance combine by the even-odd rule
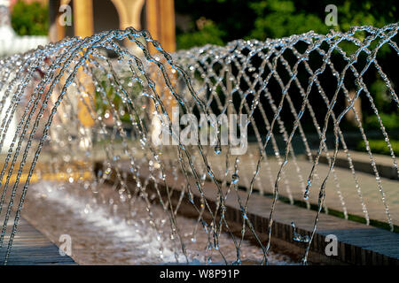
[[[177,27],[178,49],[207,43],[223,45],[238,38],[278,38],[313,30],[325,34],[334,28],[346,31],[352,26],[382,27],[398,19],[393,0],[175,0],[176,12],[190,18],[185,30]],[[325,25],[325,7],[338,8],[338,26]],[[199,27],[200,18],[209,20]]]

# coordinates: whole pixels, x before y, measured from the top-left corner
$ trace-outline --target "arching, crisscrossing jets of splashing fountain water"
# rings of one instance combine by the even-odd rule
[[[231,261],[226,260],[220,241],[233,242],[237,254],[234,263],[239,264],[241,245],[248,231],[262,249],[262,263],[268,263],[278,195],[285,195],[293,203],[299,193],[309,207],[314,190],[311,187],[317,184],[318,210],[313,232],[305,241],[308,246],[303,262],[306,263],[319,214],[323,209],[328,212],[327,188],[335,190],[340,209],[348,218],[343,191],[348,187],[340,187],[334,168],[340,147],[348,159],[364,218],[370,222],[348,150],[350,141],[341,126],[348,112],[354,114],[358,135],[370,157],[386,221],[393,229],[395,218],[354,105],[360,96],[367,99],[397,172],[387,130],[370,86],[364,80],[365,73],[372,72],[368,70],[373,67],[373,72],[384,82],[393,107],[397,108],[395,85],[377,60],[382,49],[399,53],[395,42],[397,30],[397,24],[382,28],[352,27],[347,33],[309,32],[265,42],[239,40],[225,47],[207,45],[169,55],[147,32],[128,28],[84,39],[67,38],[1,59],[2,247],[6,233],[10,234],[4,263],[10,256],[29,184],[43,180],[74,184],[89,191],[93,199],[105,183],[111,182],[119,202],[132,208],[140,203],[137,207],[146,210],[153,234],[168,233],[171,246],[180,249],[171,253],[175,253],[179,262],[183,255],[186,263],[190,262],[190,250],[177,215],[189,203],[197,216],[189,241],[195,242],[198,230],[202,229],[207,235],[207,250],[217,252],[225,264]],[[363,40],[358,39],[359,34]],[[135,48],[122,47],[118,42],[123,40]],[[344,43],[355,51],[349,52]],[[153,45],[159,53],[151,55],[147,45]],[[229,125],[223,124],[223,119],[209,119],[210,132],[206,133],[216,136],[215,144],[200,139],[202,126],[198,127],[198,134],[191,136],[191,143],[184,143],[181,135],[173,131],[180,128],[179,124],[176,126],[180,117],[174,117],[172,111],[176,108],[182,116],[194,118],[200,114],[219,118],[227,114],[230,122],[231,115],[246,114],[244,126],[248,127],[248,134],[237,120]],[[157,115],[166,119],[154,122]],[[234,154],[239,142],[223,140],[226,125],[228,133],[231,126],[239,127],[240,136],[247,138],[249,145],[244,154]],[[153,142],[156,138],[153,133],[160,128],[168,130],[163,134],[172,138],[172,145]],[[316,149],[315,157],[312,149]],[[319,164],[323,153],[329,162],[326,173]],[[301,159],[301,155],[308,161]],[[304,163],[310,164],[309,172],[305,172]],[[293,168],[289,172],[288,164]],[[333,184],[327,183],[330,175]],[[281,183],[284,191],[280,190]],[[206,193],[206,187],[211,185],[215,207]],[[246,188],[245,199],[238,194],[242,187]],[[254,189],[274,195],[266,245],[246,215]],[[224,218],[229,210],[225,201],[230,194],[238,195],[241,208],[239,235],[232,233]],[[104,197],[101,202],[113,205],[113,198]],[[16,216],[8,229],[11,231],[7,231],[12,209],[16,210]],[[159,210],[168,219],[170,229],[157,225]],[[230,234],[231,239],[224,233]],[[294,233],[293,237],[304,241],[300,234]],[[163,236],[154,238],[161,241]]]

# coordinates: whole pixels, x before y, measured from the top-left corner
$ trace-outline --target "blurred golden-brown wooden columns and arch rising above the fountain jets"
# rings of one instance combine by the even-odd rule
[[[176,50],[174,0],[48,0],[48,4],[49,35],[53,42],[65,36],[85,37],[134,27],[147,29],[165,50]],[[65,26],[65,13],[69,9],[73,20]]]

